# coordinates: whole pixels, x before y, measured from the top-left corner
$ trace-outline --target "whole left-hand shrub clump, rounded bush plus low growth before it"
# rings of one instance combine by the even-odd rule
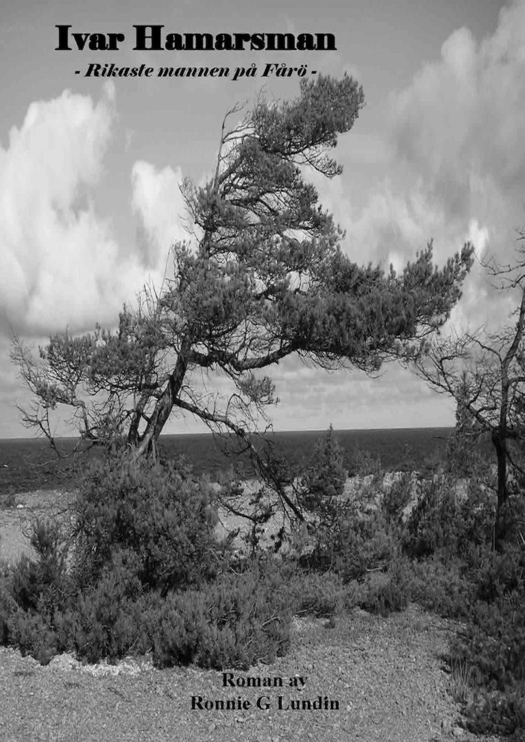
[[[72,532],[33,524],[36,559],[4,568],[0,638],[47,663],[151,651],[159,666],[248,666],[287,649],[290,603],[270,562],[232,572],[212,493],[173,465],[94,464]]]

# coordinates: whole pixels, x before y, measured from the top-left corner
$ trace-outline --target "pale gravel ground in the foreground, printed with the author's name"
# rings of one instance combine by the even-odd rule
[[[287,657],[233,672],[156,670],[148,660],[81,666],[69,655],[47,667],[0,649],[4,741],[431,742],[474,740],[458,725],[440,656],[453,625],[410,606],[388,619],[355,611],[329,628],[296,619]],[[247,687],[247,678],[283,687]],[[290,678],[297,687],[290,687]],[[301,689],[302,678],[304,686]],[[244,687],[238,683],[244,681]],[[192,709],[201,704],[202,709]],[[328,709],[293,709],[322,698]],[[279,702],[281,697],[281,702]],[[199,700],[199,698],[201,700]],[[258,708],[257,699],[261,698]],[[244,703],[218,710],[215,702]],[[206,701],[214,708],[207,710]],[[330,709],[330,701],[333,708]],[[249,703],[247,703],[249,702]],[[336,705],[339,704],[339,708]],[[207,704],[209,705],[209,703]],[[279,705],[282,706],[279,709]],[[307,705],[307,704],[306,704]],[[488,738],[487,738],[488,739]],[[495,738],[492,738],[495,740]]]

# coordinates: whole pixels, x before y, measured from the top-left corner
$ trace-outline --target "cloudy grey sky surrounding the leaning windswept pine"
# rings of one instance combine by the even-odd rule
[[[336,50],[134,50],[134,24],[163,34],[333,33]],[[119,50],[56,50],[70,33],[123,33]],[[69,37],[73,39],[72,36]],[[79,37],[80,38],[80,37]],[[74,42],[71,42],[74,45]],[[95,78],[119,67],[227,66],[207,79]],[[295,97],[307,65],[365,91],[339,139],[342,176],[314,180],[359,263],[397,269],[434,240],[443,264],[466,240],[512,260],[525,226],[525,0],[193,0],[139,4],[7,0],[0,27],[0,438],[31,436],[16,404],[27,392],[10,362],[16,332],[35,348],[53,332],[114,326],[146,282],[159,286],[169,246],[186,237],[179,183],[212,171],[226,110],[264,90]],[[255,64],[257,74],[233,80]],[[79,70],[79,73],[76,73]],[[502,322],[511,308],[475,263],[454,326]],[[454,405],[407,370],[379,378],[287,359],[272,372],[275,430],[433,427]],[[67,413],[57,434],[71,433]],[[166,433],[200,432],[175,417]]]

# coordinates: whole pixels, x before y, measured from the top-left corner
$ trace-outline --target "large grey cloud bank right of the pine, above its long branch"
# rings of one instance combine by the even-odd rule
[[[392,94],[385,121],[374,148],[385,169],[364,205],[353,206],[341,183],[316,182],[349,254],[399,269],[433,237],[438,263],[466,240],[479,257],[512,260],[525,225],[525,2],[503,8],[486,39],[451,33],[440,58]],[[483,308],[476,295],[488,309],[479,266],[465,295],[465,318]]]

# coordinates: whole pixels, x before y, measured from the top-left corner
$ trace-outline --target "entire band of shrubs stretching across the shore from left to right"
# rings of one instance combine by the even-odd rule
[[[451,647],[469,726],[525,734],[525,549],[521,489],[494,549],[494,495],[482,460],[457,456],[385,485],[379,462],[345,462],[333,434],[294,485],[305,522],[287,555],[235,558],[214,534],[213,490],[184,467],[116,458],[88,470],[73,527],[36,522],[36,559],[0,576],[0,641],[46,663],[151,651],[157,666],[271,662],[294,614],[333,626],[359,606],[388,615],[410,601],[465,628]],[[464,458],[464,454],[462,454]],[[472,464],[472,465],[471,465]],[[358,478],[348,487],[346,472]],[[293,478],[290,478],[290,482]],[[286,540],[286,539],[284,539]]]

